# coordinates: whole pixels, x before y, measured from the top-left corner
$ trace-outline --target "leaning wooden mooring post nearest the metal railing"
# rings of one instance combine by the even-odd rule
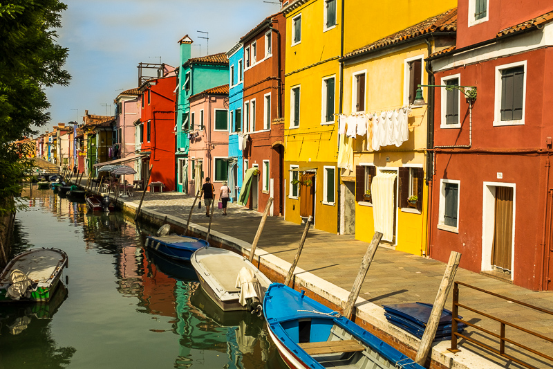
[[[434,341],[436,331],[438,330],[438,323],[440,323],[440,317],[442,316],[447,296],[449,295],[449,291],[453,285],[460,260],[461,254],[456,251],[451,251],[444,277],[440,283],[440,288],[438,288],[438,294],[436,295],[434,306],[432,307],[427,327],[424,329],[424,334],[422,334],[420,347],[417,352],[417,357],[415,358],[415,362],[420,365],[424,365],[424,362],[427,361],[432,342]]]

